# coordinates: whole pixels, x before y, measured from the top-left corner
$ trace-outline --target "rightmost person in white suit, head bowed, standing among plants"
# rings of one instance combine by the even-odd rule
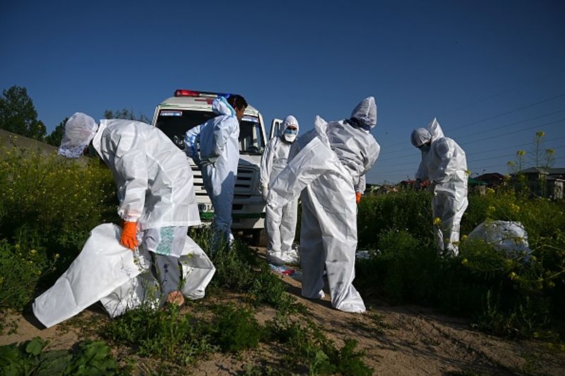
[[[459,225],[468,206],[465,152],[456,141],[444,136],[435,118],[427,128],[412,131],[410,141],[422,151],[416,186],[429,179],[429,190],[434,194],[432,212],[437,247],[442,256],[456,256]]]

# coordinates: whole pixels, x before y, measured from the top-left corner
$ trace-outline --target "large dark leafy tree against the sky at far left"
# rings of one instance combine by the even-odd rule
[[[37,111],[28,96],[28,90],[12,86],[0,98],[0,128],[22,136],[43,141],[45,124],[37,120]]]

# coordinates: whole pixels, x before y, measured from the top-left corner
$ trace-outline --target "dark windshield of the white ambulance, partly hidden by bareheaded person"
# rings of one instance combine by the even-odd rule
[[[215,117],[210,111],[160,110],[155,127],[163,131],[179,148],[184,150],[184,134],[191,128]],[[245,115],[239,122],[239,152],[261,154],[263,134],[258,117]]]

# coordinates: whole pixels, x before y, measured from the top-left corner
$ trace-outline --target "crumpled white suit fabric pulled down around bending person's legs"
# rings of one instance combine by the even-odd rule
[[[113,223],[94,228],[69,269],[35,299],[33,313],[45,327],[77,315],[98,300],[111,317],[138,307],[145,299],[159,304],[148,252],[143,247],[132,252],[120,245],[120,235],[121,228]],[[191,299],[203,298],[215,267],[188,235],[179,262],[186,281],[182,293]]]

